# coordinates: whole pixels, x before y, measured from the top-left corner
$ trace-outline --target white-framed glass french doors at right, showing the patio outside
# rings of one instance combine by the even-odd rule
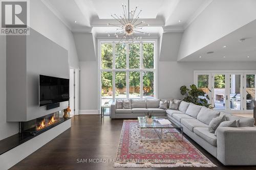
[[[195,83],[210,96],[215,110],[250,112],[255,100],[255,71],[198,71]]]

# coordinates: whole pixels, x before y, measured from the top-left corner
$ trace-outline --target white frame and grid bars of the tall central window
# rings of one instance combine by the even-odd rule
[[[116,100],[115,98],[115,72],[117,71],[125,71],[126,72],[126,99],[129,99],[130,93],[130,71],[139,71],[140,72],[140,98],[138,99],[145,99],[143,98],[143,72],[144,71],[153,71],[154,72],[154,99],[157,99],[158,95],[158,88],[157,88],[157,48],[158,48],[158,39],[157,38],[144,38],[143,43],[154,43],[154,68],[143,68],[143,44],[140,44],[140,68],[129,68],[129,47],[126,46],[126,68],[116,68],[115,67],[115,45],[118,43],[118,39],[97,39],[97,50],[98,50],[98,96],[99,101],[98,104],[101,107],[101,72],[102,71],[110,71],[112,72],[112,89],[113,89],[113,101]],[[103,43],[112,43],[113,45],[113,62],[112,68],[104,69],[102,68],[102,60],[101,60],[101,44]],[[150,99],[147,99],[150,100]],[[100,108],[99,108],[100,109]]]

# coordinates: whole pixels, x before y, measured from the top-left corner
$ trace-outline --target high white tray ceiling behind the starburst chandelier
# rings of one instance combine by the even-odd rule
[[[107,23],[116,23],[111,14],[122,13],[122,4],[128,0],[42,0],[73,32],[90,32],[101,27],[100,32],[114,33]],[[142,9],[141,20],[150,27],[183,31],[212,0],[130,0],[130,9]],[[76,22],[74,22],[76,21]],[[166,28],[166,29],[165,29]],[[108,30],[108,31],[107,31]],[[159,29],[148,28],[146,32],[159,34]]]

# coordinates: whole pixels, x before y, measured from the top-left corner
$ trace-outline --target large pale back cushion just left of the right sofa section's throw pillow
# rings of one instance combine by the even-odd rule
[[[209,125],[211,120],[215,117],[218,117],[219,115],[220,115],[220,112],[217,110],[211,110],[206,107],[202,107],[202,109],[200,110],[200,112],[197,115],[197,119],[200,122]]]

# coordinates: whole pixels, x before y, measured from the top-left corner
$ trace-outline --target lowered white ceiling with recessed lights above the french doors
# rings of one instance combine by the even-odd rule
[[[256,20],[201,48],[181,61],[256,61],[255,30]],[[240,40],[243,38],[245,41]],[[208,52],[214,53],[207,54]]]

